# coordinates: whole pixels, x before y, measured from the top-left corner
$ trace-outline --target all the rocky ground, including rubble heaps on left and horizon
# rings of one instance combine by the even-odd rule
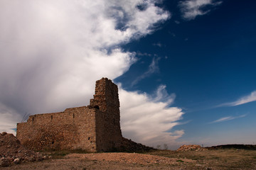
[[[0,133],[0,169],[256,169],[255,149],[218,148],[183,145],[176,151],[154,149],[143,154],[60,151],[43,156],[23,147],[14,135],[3,132]]]

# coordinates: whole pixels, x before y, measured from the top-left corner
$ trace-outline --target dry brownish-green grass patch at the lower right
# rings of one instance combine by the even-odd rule
[[[196,163],[189,165],[188,169],[194,169],[196,166],[209,169],[256,169],[256,150],[213,149],[198,152],[161,150],[147,154],[196,160]]]

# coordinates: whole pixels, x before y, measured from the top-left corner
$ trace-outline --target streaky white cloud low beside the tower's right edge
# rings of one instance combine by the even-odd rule
[[[121,103],[121,126],[124,137],[149,146],[168,144],[184,134],[183,130],[169,132],[181,120],[181,108],[171,107],[174,96],[166,96],[164,86],[159,86],[152,97],[138,91],[119,90]],[[169,98],[166,101],[166,98]]]

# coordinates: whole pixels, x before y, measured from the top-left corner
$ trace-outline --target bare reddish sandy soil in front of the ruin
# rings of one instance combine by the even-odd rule
[[[26,162],[1,169],[186,169],[191,159],[174,159],[149,154],[68,154],[63,159]]]

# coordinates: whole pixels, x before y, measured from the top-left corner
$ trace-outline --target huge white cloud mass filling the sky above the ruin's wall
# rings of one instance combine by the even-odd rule
[[[0,1],[1,101],[23,113],[84,105],[95,80],[135,61],[119,44],[168,18],[154,1]]]

